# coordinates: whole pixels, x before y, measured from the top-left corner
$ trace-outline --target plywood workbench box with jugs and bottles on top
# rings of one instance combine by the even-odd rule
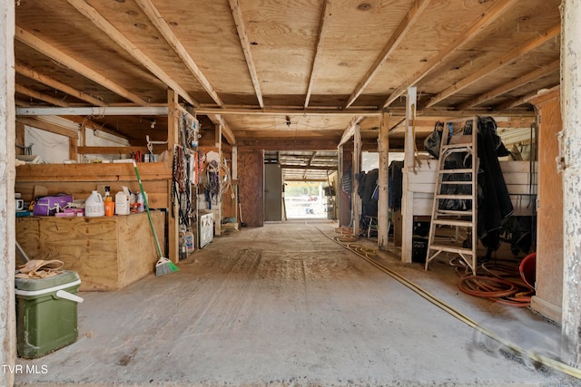
[[[165,214],[152,211],[165,246]],[[16,218],[16,240],[30,259],[59,259],[81,290],[118,290],[154,273],[159,258],[147,213],[97,218]],[[17,259],[17,265],[21,265]]]

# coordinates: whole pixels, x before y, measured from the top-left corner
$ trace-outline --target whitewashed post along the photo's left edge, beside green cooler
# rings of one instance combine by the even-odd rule
[[[0,364],[14,367],[15,324],[15,2],[0,2]],[[1,372],[0,385],[11,386],[16,372]]]

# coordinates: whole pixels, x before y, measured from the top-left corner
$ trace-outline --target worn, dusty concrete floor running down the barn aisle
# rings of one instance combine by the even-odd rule
[[[16,374],[16,385],[579,385],[484,340],[325,237],[337,236],[334,227],[243,228],[178,273],[82,293],[79,340],[18,359],[46,372]],[[425,272],[393,256],[377,260],[497,334],[558,353],[555,324],[458,292],[446,263]]]

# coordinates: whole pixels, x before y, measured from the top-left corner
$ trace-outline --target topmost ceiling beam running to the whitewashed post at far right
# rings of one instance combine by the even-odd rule
[[[521,56],[525,55],[536,49],[538,46],[547,43],[548,40],[553,39],[554,37],[558,36],[561,33],[561,24],[556,24],[553,27],[549,28],[542,34],[539,34],[535,38],[525,42],[524,44],[520,44],[514,50],[505,53],[504,55],[500,56],[499,58],[495,59],[491,63],[488,63],[486,66],[481,67],[476,73],[472,73],[468,75],[468,77],[454,83],[452,86],[448,87],[443,92],[439,92],[438,95],[433,97],[426,107],[431,107],[437,104],[438,102],[446,100],[450,95],[454,95],[455,93],[465,89],[469,85],[474,82],[478,82],[485,76],[494,73],[495,71],[503,68],[507,64],[517,60]]]

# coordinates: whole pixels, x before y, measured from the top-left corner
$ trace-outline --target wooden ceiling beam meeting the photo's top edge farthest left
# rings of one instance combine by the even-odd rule
[[[67,2],[74,7],[81,15],[84,15],[89,19],[97,28],[103,31],[104,34],[109,36],[113,42],[119,44],[123,50],[129,53],[133,58],[141,63],[147,70],[153,73],[157,78],[159,78],[163,83],[165,83],[170,89],[177,92],[182,98],[190,102],[193,106],[198,106],[199,103],[196,102],[189,94],[182,88],[182,86],[175,82],[170,75],[165,73],[160,66],[145,55],[135,44],[133,44],[129,39],[127,39],[119,30],[117,30],[113,24],[109,23],[103,15],[99,14],[94,7],[88,5],[84,0],[67,0]]]

